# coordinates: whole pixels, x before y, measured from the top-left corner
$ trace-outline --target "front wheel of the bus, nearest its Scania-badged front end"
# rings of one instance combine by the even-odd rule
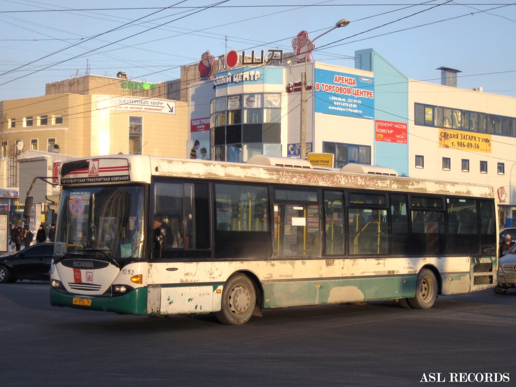
[[[220,311],[215,312],[215,317],[222,324],[245,324],[253,315],[255,306],[256,291],[252,281],[238,274],[225,283]]]

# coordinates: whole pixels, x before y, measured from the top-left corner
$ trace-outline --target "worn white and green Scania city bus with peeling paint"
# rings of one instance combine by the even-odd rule
[[[236,325],[296,305],[427,309],[496,284],[492,187],[348,169],[267,156],[63,162],[51,303]]]

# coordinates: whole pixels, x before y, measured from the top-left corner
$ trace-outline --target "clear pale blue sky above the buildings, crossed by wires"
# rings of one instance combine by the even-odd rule
[[[180,77],[209,50],[283,49],[338,20],[313,58],[354,67],[375,49],[411,79],[516,98],[516,3],[486,0],[0,0],[0,101],[44,95],[45,84],[126,72],[149,83]],[[516,112],[515,112],[516,114]]]

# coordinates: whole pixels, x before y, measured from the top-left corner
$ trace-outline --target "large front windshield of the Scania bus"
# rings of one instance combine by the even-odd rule
[[[63,188],[56,255],[101,253],[143,259],[143,186]]]

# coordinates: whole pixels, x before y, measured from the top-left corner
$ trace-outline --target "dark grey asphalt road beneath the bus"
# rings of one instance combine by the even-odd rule
[[[0,386],[516,386],[515,328],[514,290],[442,296],[425,311],[266,310],[225,326],[54,308],[48,284],[19,282],[0,285]],[[504,381],[474,381],[487,374]]]

